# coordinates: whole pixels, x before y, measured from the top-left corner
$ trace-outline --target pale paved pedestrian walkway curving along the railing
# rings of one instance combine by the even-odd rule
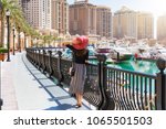
[[[25,53],[11,55],[11,62],[1,63],[2,110],[90,110],[94,107],[76,100],[55,82],[43,75],[25,57]]]

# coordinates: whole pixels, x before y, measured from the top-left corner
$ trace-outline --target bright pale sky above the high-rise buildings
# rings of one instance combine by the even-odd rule
[[[68,0],[70,4],[75,0]],[[135,11],[148,11],[155,17],[166,13],[166,0],[89,0],[90,3],[96,6],[107,6],[113,12],[121,9],[122,6],[126,6]]]

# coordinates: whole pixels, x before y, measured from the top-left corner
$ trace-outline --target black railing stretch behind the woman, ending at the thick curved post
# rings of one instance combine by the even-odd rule
[[[27,49],[27,57],[34,64],[40,71],[48,75],[48,77],[58,78],[59,86],[70,86],[71,76],[69,75],[69,68],[72,66],[72,62],[69,58],[62,60],[62,52],[53,49],[54,55],[52,55],[51,49]],[[97,65],[87,64],[86,82],[84,89],[84,98],[92,105],[98,107],[102,104],[102,94],[98,85],[100,73]]]

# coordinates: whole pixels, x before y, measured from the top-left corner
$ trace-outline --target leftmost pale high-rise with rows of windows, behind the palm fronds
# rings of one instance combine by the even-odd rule
[[[51,28],[50,0],[22,0],[21,6],[28,23],[33,28]]]

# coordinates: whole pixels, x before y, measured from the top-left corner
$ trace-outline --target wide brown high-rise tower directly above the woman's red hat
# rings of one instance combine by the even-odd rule
[[[72,35],[96,35],[96,6],[89,0],[75,0],[70,6],[70,33]]]

